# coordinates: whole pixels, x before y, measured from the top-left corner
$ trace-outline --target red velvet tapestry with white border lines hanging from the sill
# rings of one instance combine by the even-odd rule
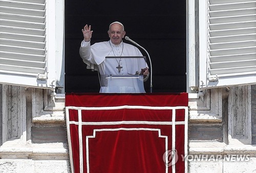
[[[72,172],[187,172],[187,93],[66,94]]]

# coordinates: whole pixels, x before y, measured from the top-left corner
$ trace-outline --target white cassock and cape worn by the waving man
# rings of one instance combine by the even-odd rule
[[[82,41],[79,50],[83,62],[87,64],[87,69],[97,70],[101,76],[100,93],[145,93],[143,87],[143,76],[141,79],[118,79],[115,82],[102,80],[105,78],[105,65],[108,56],[143,56],[138,48],[133,45],[121,42],[119,45],[112,44],[111,41],[97,42],[90,45],[90,41]],[[121,69],[118,69],[120,65]],[[108,63],[112,75],[136,75],[141,69],[148,68],[146,62],[135,62],[134,60],[113,58],[111,65]],[[120,70],[120,72],[119,72]],[[103,76],[103,77],[102,77]],[[148,77],[148,76],[147,76]],[[116,82],[118,81],[118,82]],[[141,85],[142,84],[142,85]]]

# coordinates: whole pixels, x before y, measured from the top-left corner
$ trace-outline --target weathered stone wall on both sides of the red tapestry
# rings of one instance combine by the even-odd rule
[[[249,156],[248,161],[189,160],[189,172],[253,172],[256,86],[189,96],[190,156]],[[65,97],[0,84],[0,172],[70,172]]]

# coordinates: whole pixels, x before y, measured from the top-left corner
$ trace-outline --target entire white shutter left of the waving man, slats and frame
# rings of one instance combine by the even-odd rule
[[[0,0],[0,13],[0,82],[39,88],[63,86],[63,7],[61,14],[61,6],[55,10],[54,1]],[[59,28],[52,16],[60,17]],[[60,65],[57,68],[56,63]]]

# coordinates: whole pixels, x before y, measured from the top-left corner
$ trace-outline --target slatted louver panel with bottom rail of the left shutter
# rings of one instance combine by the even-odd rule
[[[46,49],[45,0],[0,0],[0,82],[52,87]]]

